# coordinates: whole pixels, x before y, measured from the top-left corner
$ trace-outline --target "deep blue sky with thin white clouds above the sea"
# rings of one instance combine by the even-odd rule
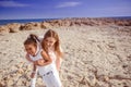
[[[131,16],[131,0],[0,0],[0,20]]]

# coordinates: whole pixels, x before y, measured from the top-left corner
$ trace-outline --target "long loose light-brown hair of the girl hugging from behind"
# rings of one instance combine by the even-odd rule
[[[61,50],[60,50],[59,36],[58,36],[58,34],[57,34],[55,30],[52,30],[52,29],[49,29],[49,30],[45,34],[44,39],[43,39],[43,41],[41,41],[41,47],[43,47],[43,49],[48,53],[48,48],[46,47],[46,44],[45,44],[45,40],[46,40],[46,38],[48,38],[48,37],[52,37],[52,38],[56,39],[56,42],[55,42],[55,52],[56,52],[56,54],[57,54],[57,58],[61,58],[61,57],[62,57],[62,52],[61,52]]]

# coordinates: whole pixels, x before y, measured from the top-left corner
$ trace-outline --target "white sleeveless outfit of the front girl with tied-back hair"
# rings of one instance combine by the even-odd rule
[[[35,57],[29,55],[29,58],[33,61],[37,61],[39,59],[43,59],[41,51],[43,50],[39,50]],[[38,66],[37,65],[38,73],[43,77],[43,80],[46,84],[46,87],[62,87],[58,71],[56,69],[56,63],[53,62],[53,60],[55,59],[52,59],[51,64],[48,64],[48,65],[45,65],[45,66]]]

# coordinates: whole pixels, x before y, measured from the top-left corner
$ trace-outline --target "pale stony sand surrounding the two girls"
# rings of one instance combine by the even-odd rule
[[[44,25],[60,36],[63,87],[131,86],[131,25]],[[29,87],[32,64],[25,59],[23,41],[29,34],[43,36],[46,30],[0,29],[0,87]],[[43,86],[38,76],[36,87]]]

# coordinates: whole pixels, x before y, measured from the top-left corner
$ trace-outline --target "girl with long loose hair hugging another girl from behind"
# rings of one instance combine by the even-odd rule
[[[63,53],[60,47],[58,34],[52,29],[47,30],[41,41],[41,47],[52,59],[52,62],[56,64],[56,67],[59,71]]]

